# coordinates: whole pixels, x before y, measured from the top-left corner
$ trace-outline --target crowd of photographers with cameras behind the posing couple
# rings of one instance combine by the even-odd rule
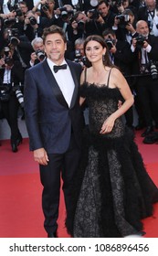
[[[41,0],[0,1],[0,116],[11,129],[12,151],[22,136],[18,129],[23,110],[25,70],[45,59],[43,29],[62,27],[68,39],[66,58],[89,66],[84,39],[105,38],[113,64],[121,69],[135,97],[125,114],[132,129],[144,128],[142,137],[158,128],[158,5],[156,0]],[[144,139],[145,142],[145,139]]]

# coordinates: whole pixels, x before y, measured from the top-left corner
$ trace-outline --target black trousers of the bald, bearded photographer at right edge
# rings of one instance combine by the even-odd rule
[[[135,89],[146,126],[153,125],[153,120],[158,123],[158,80],[138,78]]]

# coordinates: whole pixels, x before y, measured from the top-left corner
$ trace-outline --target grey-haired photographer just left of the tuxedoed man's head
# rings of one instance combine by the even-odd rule
[[[32,40],[31,45],[34,49],[34,52],[31,53],[31,59],[29,63],[30,67],[33,67],[45,59],[45,50],[43,39],[41,37],[36,37],[34,40]]]

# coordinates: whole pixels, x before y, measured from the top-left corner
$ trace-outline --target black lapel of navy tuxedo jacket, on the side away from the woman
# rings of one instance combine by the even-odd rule
[[[55,80],[55,77],[53,76],[48,64],[47,64],[47,60],[45,59],[43,62],[43,67],[45,69],[45,73],[46,73],[46,77],[47,77],[47,82],[49,84],[51,84],[52,86],[52,90],[54,92],[54,95],[56,96],[58,102],[63,105],[64,107],[68,108],[68,103],[65,100],[62,91],[59,89],[57,80]]]

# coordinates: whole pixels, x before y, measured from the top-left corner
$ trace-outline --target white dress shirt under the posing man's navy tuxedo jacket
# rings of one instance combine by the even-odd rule
[[[64,59],[64,61],[60,64],[60,65],[67,64],[67,69],[59,69],[57,73],[55,73],[53,69],[53,67],[56,66],[57,64],[55,64],[53,61],[51,61],[48,58],[47,58],[47,64],[51,69],[55,79],[57,80],[58,86],[62,91],[62,94],[65,100],[67,101],[68,107],[69,107],[72,100],[75,83],[74,83],[74,80],[72,79],[72,75],[67,62]]]

